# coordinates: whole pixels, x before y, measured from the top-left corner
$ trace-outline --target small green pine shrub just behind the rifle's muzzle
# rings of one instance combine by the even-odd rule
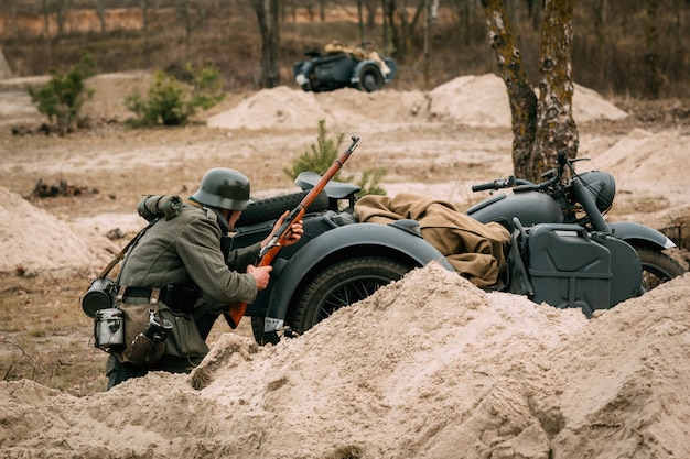
[[[292,179],[297,178],[300,173],[308,171],[323,175],[341,155],[344,139],[344,133],[339,133],[335,139],[330,139],[326,121],[319,120],[316,143],[312,143],[309,150],[302,152],[302,154],[292,162],[292,166],[283,168],[283,172]],[[336,182],[353,182],[355,179],[353,175],[345,175],[342,172],[343,171],[339,170],[332,179]],[[380,186],[380,182],[385,175],[386,170],[382,167],[363,171],[362,176],[356,182],[362,188],[362,190],[357,193],[357,196],[385,195],[386,189]]]

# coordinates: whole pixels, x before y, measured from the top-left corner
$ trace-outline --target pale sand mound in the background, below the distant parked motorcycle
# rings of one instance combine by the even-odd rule
[[[626,113],[595,91],[575,85],[573,117],[576,122],[622,119]],[[263,89],[237,107],[208,119],[224,129],[313,129],[328,125],[398,125],[412,121],[443,121],[468,127],[510,127],[508,95],[494,75],[462,76],[429,92],[385,89],[371,94],[356,89],[304,92],[281,86]]]

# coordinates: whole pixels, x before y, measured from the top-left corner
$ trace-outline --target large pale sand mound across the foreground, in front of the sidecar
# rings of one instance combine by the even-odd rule
[[[587,321],[430,265],[276,347],[226,335],[192,376],[154,373],[85,398],[0,383],[0,447],[7,458],[688,457],[688,298],[684,276]]]

